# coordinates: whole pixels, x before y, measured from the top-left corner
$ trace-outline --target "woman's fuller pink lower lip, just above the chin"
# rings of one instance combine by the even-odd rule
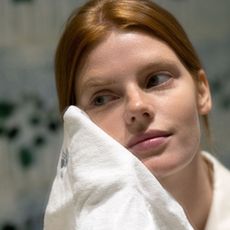
[[[169,136],[167,137],[156,137],[152,139],[147,139],[142,141],[130,148],[130,151],[135,154],[150,152],[151,154],[160,154],[162,148],[165,146],[168,141]]]

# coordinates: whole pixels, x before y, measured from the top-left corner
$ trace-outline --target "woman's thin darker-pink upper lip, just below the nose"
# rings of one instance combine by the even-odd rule
[[[153,138],[157,138],[157,137],[168,137],[170,136],[171,133],[167,132],[167,131],[163,131],[163,130],[151,130],[149,132],[146,133],[142,133],[139,135],[134,136],[133,138],[130,139],[130,141],[127,144],[127,148],[132,148],[133,146],[149,140],[149,139],[153,139]]]

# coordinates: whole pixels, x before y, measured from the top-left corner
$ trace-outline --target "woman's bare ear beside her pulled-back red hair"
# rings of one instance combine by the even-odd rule
[[[203,69],[198,72],[197,93],[198,112],[200,115],[207,115],[212,108],[212,98],[209,83]]]

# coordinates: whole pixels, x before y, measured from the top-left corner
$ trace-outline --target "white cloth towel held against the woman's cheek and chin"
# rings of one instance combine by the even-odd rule
[[[80,109],[64,115],[64,142],[45,230],[187,230],[183,209],[127,149]]]

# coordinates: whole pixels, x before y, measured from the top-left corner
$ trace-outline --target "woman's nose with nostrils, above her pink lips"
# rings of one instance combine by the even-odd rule
[[[149,95],[141,89],[129,89],[126,98],[124,119],[126,124],[135,129],[146,129],[154,118]]]

